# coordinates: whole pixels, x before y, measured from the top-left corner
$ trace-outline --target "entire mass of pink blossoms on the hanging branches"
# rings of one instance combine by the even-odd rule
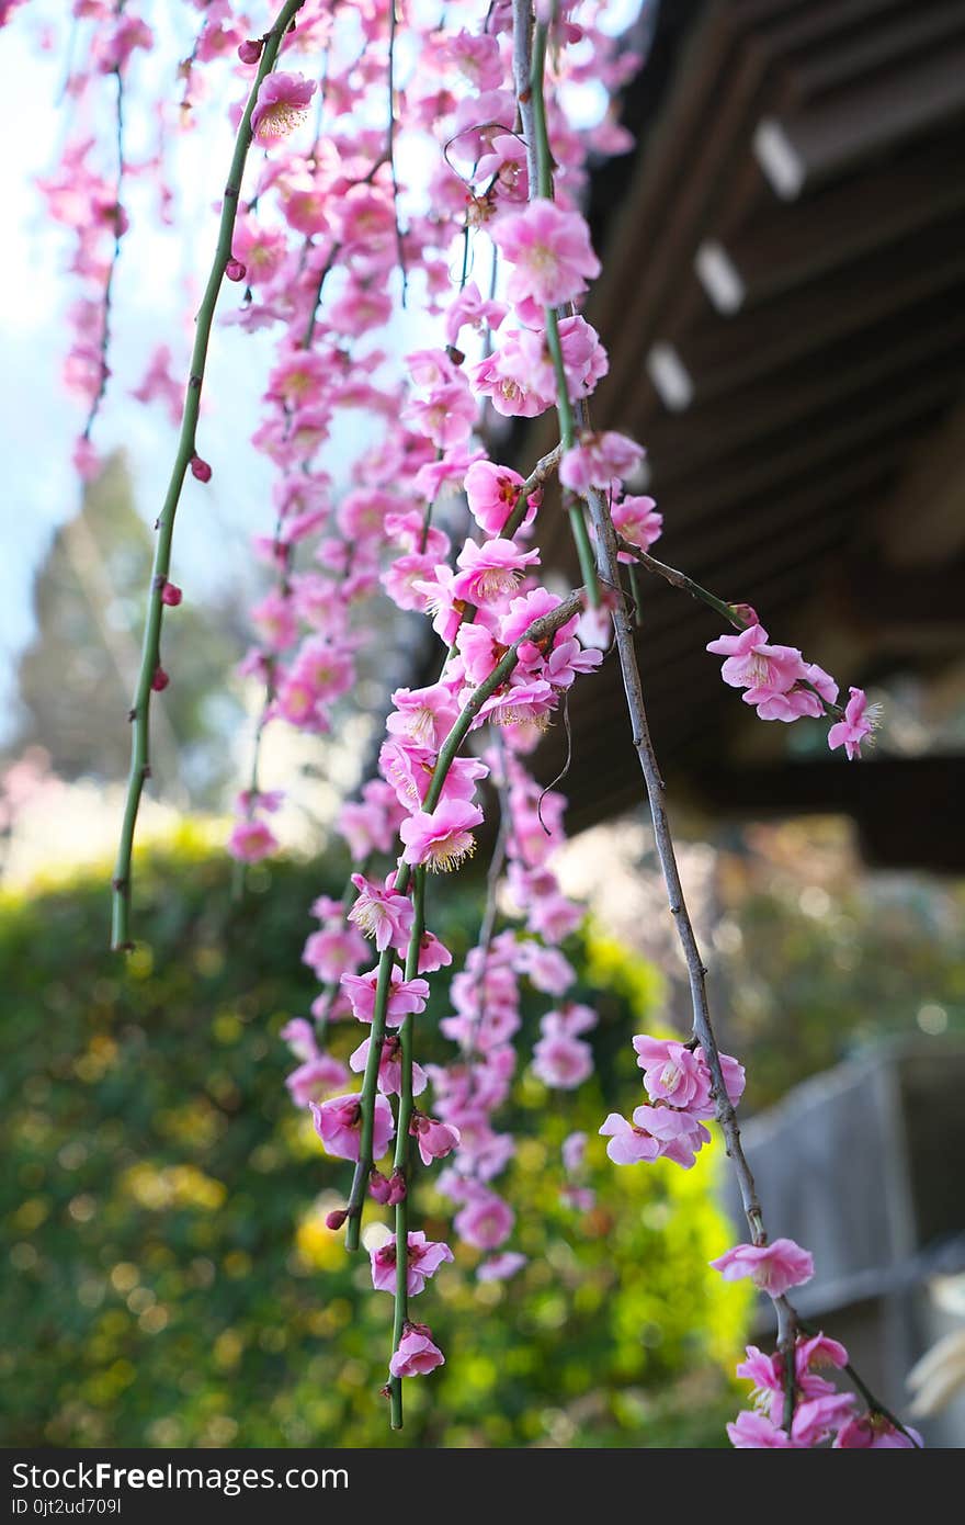
[[[636,560],[634,551],[648,552],[662,529],[654,500],[628,491],[642,447],[593,432],[582,412],[608,361],[579,311],[601,267],[578,201],[590,151],[622,152],[631,140],[611,114],[587,130],[566,110],[572,87],[593,82],[616,93],[639,58],[601,24],[596,0],[553,6],[547,15],[538,8],[538,41],[524,38],[543,70],[532,76],[529,58],[524,76],[514,76],[514,27],[532,27],[532,17],[509,0],[466,0],[441,17],[404,18],[380,0],[340,8],[290,0],[262,37],[252,35],[233,0],[191,5],[201,24],[180,70],[181,120],[189,124],[209,93],[209,70],[230,70],[248,98],[258,160],[247,200],[241,185],[224,194],[230,249],[220,246],[212,288],[216,296],[223,278],[233,284],[239,300],[229,322],[270,331],[274,342],[253,439],[274,470],[273,531],[256,541],[273,583],[253,610],[256,645],[242,663],[262,686],[258,738],[274,721],[313,735],[337,727],[340,705],[386,640],[369,616],[380,590],[399,618],[422,616],[441,644],[434,682],[392,694],[378,776],[341,808],[337,827],[355,872],[345,900],[320,897],[313,906],[319,929],[303,958],[323,988],[314,1020],[296,1019],[284,1029],[297,1060],[287,1081],[293,1101],[311,1110],[325,1151],[355,1165],[348,1205],[329,1215],[329,1226],[348,1223],[349,1243],[357,1243],[366,1197],[395,1209],[395,1237],[373,1247],[370,1260],[373,1287],[395,1298],[389,1374],[393,1415],[401,1415],[399,1380],[444,1360],[428,1325],[409,1318],[407,1299],[453,1260],[448,1244],[409,1228],[413,1151],[422,1167],[445,1162],[436,1185],[457,1209],[457,1238],[483,1257],[477,1275],[509,1276],[524,1258],[506,1247],[514,1209],[492,1183],[515,1148],[495,1113],[517,1069],[521,979],[552,1002],[540,1020],[532,1074],[572,1090],[593,1068],[585,1034],[596,1013],[573,999],[575,971],[559,947],[582,912],[561,894],[550,865],[564,840],[566,801],[540,790],[524,759],[575,680],[599,665],[605,644],[579,500],[605,500],[624,563]],[[137,49],[151,46],[151,34],[130,5],[76,0],[73,9],[93,23],[90,67],[116,76],[120,128],[125,70]],[[0,23],[9,12],[0,11]],[[274,67],[279,58],[282,67]],[[544,127],[526,113],[534,88]],[[244,145],[244,102],[232,110]],[[425,159],[427,146],[433,169],[416,189],[399,168]],[[69,358],[70,380],[88,403],[84,470],[93,462],[90,424],[107,380],[110,281],[125,230],[123,151],[110,183],[87,169],[90,148],[70,146],[63,175],[46,186],[52,214],[76,235],[75,271],[93,291],[75,314]],[[488,296],[471,279],[485,253],[492,261]],[[389,329],[399,299],[413,293],[427,320],[425,343],[399,368]],[[201,383],[192,375],[188,389],[178,386],[169,351],[159,348],[134,395],[162,401],[174,415],[192,393],[197,406]],[[535,418],[553,407],[561,444],[531,477],[492,459],[500,418]],[[349,413],[364,413],[369,430],[346,461]],[[194,438],[189,445],[183,468],[209,480],[212,467]],[[543,483],[553,473],[590,573],[582,599],[561,598],[540,581],[537,525]],[[447,499],[463,505],[462,523]],[[180,601],[166,567],[154,589],[159,616],[162,604]],[[765,720],[831,712],[831,746],[855,756],[872,729],[864,695],[852,689],[838,711],[837,685],[822,668],[770,645],[753,610],[735,622],[738,636],[709,647],[726,657],[724,680],[745,689]],[[166,683],[159,663],[151,686]],[[466,740],[474,750],[462,755]],[[489,924],[471,950],[451,979],[454,1011],[441,1022],[457,1055],[422,1068],[413,1034],[430,997],[427,976],[453,962],[425,927],[425,897],[434,875],[473,856],[485,828],[486,781],[500,796],[505,891],[521,924],[499,933]],[[281,804],[281,791],[259,781],[256,743],[230,837],[236,859],[256,862],[276,851],[271,816]],[[123,875],[119,883],[127,889]],[[329,1022],[341,1019],[367,1029],[348,1069],[326,1049]],[[605,1119],[607,1153],[616,1164],[668,1157],[691,1168],[710,1138],[707,1121],[739,1101],[744,1071],[713,1046],[704,1052],[698,1043],[640,1035],[634,1048],[646,1101],[633,1121],[617,1113]],[[715,1074],[726,1096],[715,1093]],[[363,1077],[361,1089],[352,1089],[352,1075]],[[430,1086],[431,1110],[422,1103]],[[581,1180],[585,1142],[570,1135],[563,1151],[566,1200],[575,1208],[593,1202]],[[390,1145],[392,1164],[380,1168]],[[738,1246],[715,1264],[724,1276],[753,1276],[774,1298],[811,1273],[806,1252],[787,1240]],[[768,1394],[767,1411],[738,1418],[735,1444],[805,1446],[831,1434],[835,1446],[906,1443],[877,1438],[899,1432],[886,1430],[878,1415],[855,1418],[852,1401],[816,1376],[822,1363],[846,1362],[823,1336],[796,1347],[800,1401],[787,1432],[774,1401],[787,1389],[781,1360],[749,1351],[741,1374]]]

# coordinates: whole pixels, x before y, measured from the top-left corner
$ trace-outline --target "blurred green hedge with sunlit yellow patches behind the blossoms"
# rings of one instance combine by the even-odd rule
[[[637,1093],[628,1037],[656,985],[593,933],[567,952],[581,993],[599,996],[602,1080],[569,1096],[524,1075],[506,1118],[523,1138],[505,1180],[529,1263],[480,1284],[463,1252],[434,1278],[418,1316],[447,1365],[406,1383],[390,1438],[390,1298],[325,1228],[351,1167],[291,1106],[277,1039],[313,994],[306,907],[341,889],[341,871],[259,866],[233,901],[230,866],[184,837],[139,865],[151,944],[127,968],[102,952],[107,875],[0,903],[3,1312],[17,1331],[0,1354],[3,1444],[720,1444],[735,1408],[720,1371],[747,1302],[706,1264],[729,1238],[718,1148],[691,1173],[605,1159],[596,1128]],[[465,950],[476,891],[436,900],[431,924]],[[524,1042],[544,1005],[527,997]],[[433,1026],[421,1054],[444,1058]],[[334,1048],[355,1040],[337,1029]],[[585,1212],[561,1200],[559,1145],[576,1127],[598,1193]],[[428,1177],[415,1197],[445,1237]]]

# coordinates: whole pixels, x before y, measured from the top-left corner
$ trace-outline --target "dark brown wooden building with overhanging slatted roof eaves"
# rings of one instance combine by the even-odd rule
[[[601,168],[610,352],[593,424],[648,448],[657,546],[843,683],[948,679],[965,634],[965,0],[663,0]],[[646,14],[646,12],[645,12]],[[514,441],[520,462],[553,419]],[[575,580],[566,517],[543,537]],[[643,581],[671,798],[846,811],[870,862],[965,869],[965,755],[762,724],[704,651],[717,618]],[[810,726],[811,740],[802,743]],[[578,685],[570,828],[640,801],[614,660]],[[796,732],[791,738],[790,732]],[[563,727],[541,772],[563,766]]]

